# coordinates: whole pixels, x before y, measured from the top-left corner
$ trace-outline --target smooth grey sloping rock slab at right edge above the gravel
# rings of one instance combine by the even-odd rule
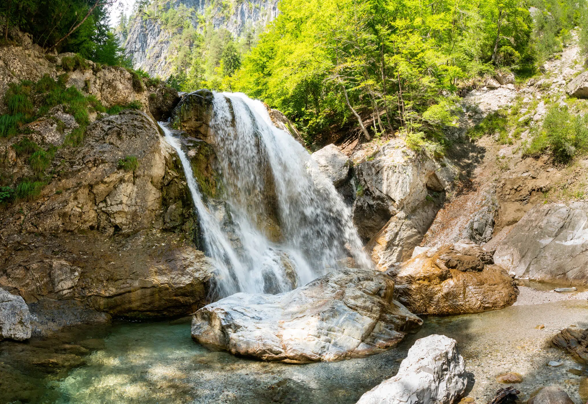
[[[538,204],[497,245],[496,264],[517,279],[588,283],[588,203]]]

